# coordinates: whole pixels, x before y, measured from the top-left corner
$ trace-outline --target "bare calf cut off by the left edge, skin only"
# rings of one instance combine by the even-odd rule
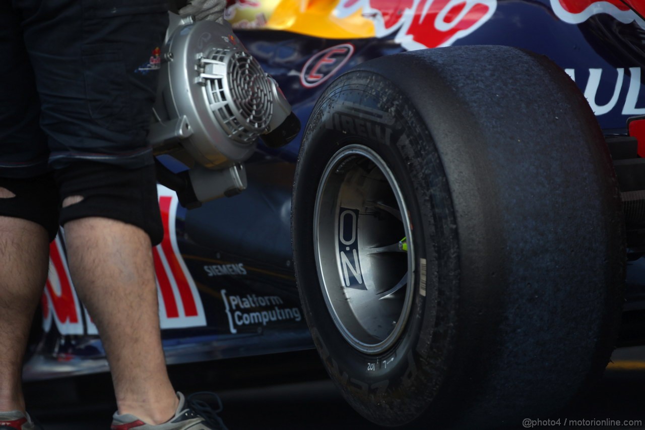
[[[0,199],[13,196],[0,188]],[[23,358],[47,279],[48,244],[41,225],[0,216],[0,411],[25,411]]]

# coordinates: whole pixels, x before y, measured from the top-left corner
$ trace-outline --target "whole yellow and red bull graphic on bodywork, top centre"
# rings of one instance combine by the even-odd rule
[[[287,30],[313,37],[386,37],[408,50],[452,45],[486,23],[497,0],[252,0],[230,2],[233,28]]]

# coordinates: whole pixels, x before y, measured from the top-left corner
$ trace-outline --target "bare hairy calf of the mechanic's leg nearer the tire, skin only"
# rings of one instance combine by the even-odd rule
[[[148,234],[107,218],[81,218],[64,228],[72,280],[99,329],[119,413],[166,422],[178,400],[161,347]]]

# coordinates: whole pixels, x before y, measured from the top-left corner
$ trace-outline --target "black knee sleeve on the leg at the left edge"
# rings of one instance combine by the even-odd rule
[[[15,197],[0,198],[0,215],[42,225],[52,241],[58,232],[58,189],[52,173],[34,178],[0,178]]]

